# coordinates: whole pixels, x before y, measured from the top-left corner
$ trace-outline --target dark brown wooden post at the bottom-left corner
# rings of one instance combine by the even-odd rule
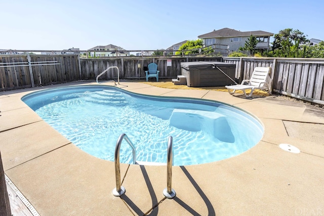
[[[10,201],[5,180],[5,171],[0,152],[0,215],[11,216]]]

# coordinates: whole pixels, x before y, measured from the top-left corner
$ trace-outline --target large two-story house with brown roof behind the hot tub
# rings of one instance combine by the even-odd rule
[[[256,49],[269,49],[270,36],[273,36],[273,33],[266,31],[237,31],[235,29],[222,28],[206,34],[201,34],[198,38],[204,40],[204,46],[214,44],[227,45],[228,51],[231,52],[237,51],[240,47],[244,47],[245,42],[248,41],[251,35],[257,37],[259,41]]]

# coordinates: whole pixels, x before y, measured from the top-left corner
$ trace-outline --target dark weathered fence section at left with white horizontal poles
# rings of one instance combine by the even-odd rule
[[[3,90],[80,79],[78,55],[0,55],[0,84]]]

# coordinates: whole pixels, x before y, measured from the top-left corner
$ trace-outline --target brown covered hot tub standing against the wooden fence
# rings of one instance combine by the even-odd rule
[[[234,84],[231,79],[235,80],[235,67],[224,62],[181,62],[181,75],[186,77],[188,87],[225,86]]]

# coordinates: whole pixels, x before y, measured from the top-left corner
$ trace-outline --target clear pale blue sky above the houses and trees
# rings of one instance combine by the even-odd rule
[[[324,40],[324,1],[0,0],[0,49],[167,49],[221,28]]]

